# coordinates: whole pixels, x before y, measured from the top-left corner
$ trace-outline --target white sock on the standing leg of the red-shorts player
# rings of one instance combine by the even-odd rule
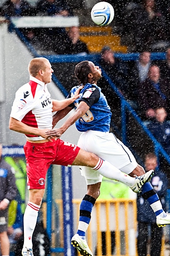
[[[28,202],[23,217],[23,228],[24,228],[24,244],[23,247],[32,249],[32,234],[35,230],[38,211],[40,206],[31,202]]]

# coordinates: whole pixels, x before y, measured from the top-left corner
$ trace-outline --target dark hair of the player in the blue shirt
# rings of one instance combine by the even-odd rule
[[[74,74],[77,77],[79,84],[85,85],[88,82],[88,75],[91,72],[89,61],[81,61],[75,66]]]

